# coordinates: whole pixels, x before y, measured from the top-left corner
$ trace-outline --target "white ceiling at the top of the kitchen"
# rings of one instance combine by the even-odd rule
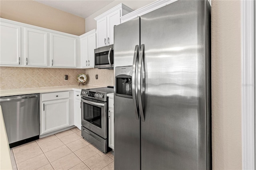
[[[35,0],[41,4],[87,18],[114,0]]]

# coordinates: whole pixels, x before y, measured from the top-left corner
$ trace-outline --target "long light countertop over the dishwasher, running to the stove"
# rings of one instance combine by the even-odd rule
[[[100,88],[100,87],[102,87],[102,86],[72,85],[72,86],[60,86],[60,87],[41,87],[41,88],[33,88],[33,89],[1,90],[0,91],[0,97],[15,96],[15,95],[28,95],[28,94],[35,94],[35,93],[50,93],[50,92],[57,92],[57,91],[93,89],[93,88]]]

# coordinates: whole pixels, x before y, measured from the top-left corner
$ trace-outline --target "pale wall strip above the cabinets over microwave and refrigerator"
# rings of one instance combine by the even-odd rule
[[[94,20],[95,17],[99,16],[100,14],[103,14],[107,10],[113,8],[114,6],[122,3],[131,8],[132,10],[137,10],[139,8],[142,8],[143,6],[146,6],[155,0],[115,0],[114,2],[111,2],[101,10],[95,12],[91,16],[85,18],[85,31],[88,32],[90,30],[97,28],[97,23]]]

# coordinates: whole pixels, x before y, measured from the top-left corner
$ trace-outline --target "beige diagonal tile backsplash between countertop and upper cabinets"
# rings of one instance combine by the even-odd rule
[[[114,84],[113,70],[0,67],[0,90],[78,85],[76,77],[80,73],[86,74],[88,85]],[[64,75],[68,75],[67,81],[64,80]]]

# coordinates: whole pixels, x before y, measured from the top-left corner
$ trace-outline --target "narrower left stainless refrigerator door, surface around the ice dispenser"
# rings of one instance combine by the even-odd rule
[[[140,18],[114,27],[115,77],[116,67],[133,65],[136,45],[140,45]],[[140,120],[133,105],[135,96],[120,97],[114,89],[114,167],[116,170],[140,170]]]

